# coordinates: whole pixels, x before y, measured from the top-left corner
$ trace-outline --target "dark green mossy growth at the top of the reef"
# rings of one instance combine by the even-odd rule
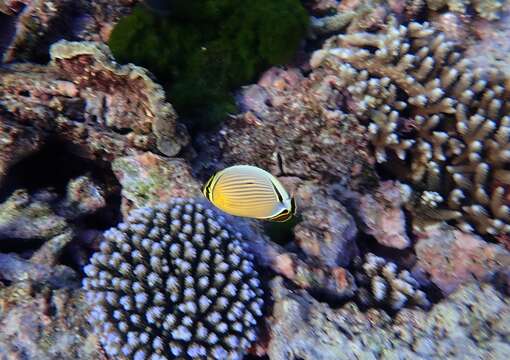
[[[137,7],[109,45],[151,70],[191,125],[207,127],[235,111],[233,88],[291,59],[307,24],[299,0],[175,0],[165,17]]]

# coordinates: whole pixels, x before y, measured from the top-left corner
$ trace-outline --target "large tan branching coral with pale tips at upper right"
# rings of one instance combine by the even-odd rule
[[[510,80],[472,68],[428,23],[329,39],[311,60],[337,76],[387,164],[428,217],[464,231],[510,232]]]

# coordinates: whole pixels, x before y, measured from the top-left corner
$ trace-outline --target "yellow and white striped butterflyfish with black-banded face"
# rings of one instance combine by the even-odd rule
[[[296,212],[294,198],[278,179],[256,166],[223,169],[207,181],[202,192],[214,206],[235,216],[283,222]]]

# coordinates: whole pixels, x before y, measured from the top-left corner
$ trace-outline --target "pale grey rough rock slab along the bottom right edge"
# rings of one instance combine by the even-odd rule
[[[466,284],[430,312],[331,309],[304,291],[272,283],[271,360],[504,359],[510,351],[510,301],[489,284]]]

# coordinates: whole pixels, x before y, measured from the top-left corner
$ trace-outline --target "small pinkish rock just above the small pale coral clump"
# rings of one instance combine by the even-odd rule
[[[374,194],[363,195],[359,215],[366,228],[384,246],[405,249],[411,245],[407,235],[406,218],[402,205],[405,201],[398,183],[385,181]]]

